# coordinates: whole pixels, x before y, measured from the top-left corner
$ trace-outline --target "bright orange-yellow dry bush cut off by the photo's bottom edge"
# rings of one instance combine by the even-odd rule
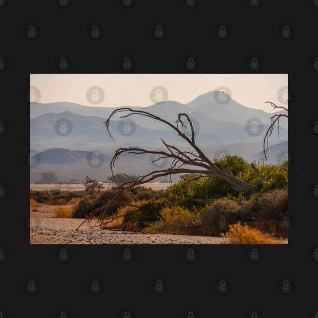
[[[272,234],[262,234],[259,230],[240,223],[229,226],[229,231],[221,233],[222,237],[228,238],[226,244],[283,244],[282,240],[275,240]]]

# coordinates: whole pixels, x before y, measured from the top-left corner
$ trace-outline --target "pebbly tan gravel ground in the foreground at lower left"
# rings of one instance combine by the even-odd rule
[[[221,244],[227,239],[208,236],[142,234],[91,228],[83,219],[57,219],[53,210],[65,205],[41,204],[30,211],[30,244]]]

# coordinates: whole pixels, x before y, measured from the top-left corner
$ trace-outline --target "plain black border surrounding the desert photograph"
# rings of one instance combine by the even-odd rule
[[[0,184],[0,312],[18,316],[60,317],[314,317],[318,276],[313,257],[317,242],[314,189],[318,184],[316,106],[318,4],[315,1],[0,1],[2,169]],[[29,26],[36,36],[27,36]],[[98,25],[100,38],[90,36]],[[157,25],[164,36],[156,39]],[[226,26],[227,37],[218,30]],[[282,37],[284,26],[290,36]],[[288,73],[291,95],[290,241],[288,246],[125,246],[29,245],[29,73],[123,73],[125,57],[132,73]],[[1,64],[1,63],[0,63]],[[1,255],[1,253],[0,253]],[[154,294],[156,280],[163,294]],[[27,286],[34,280],[36,292]],[[92,295],[92,280],[100,292]],[[227,292],[220,294],[220,280]],[[291,290],[282,292],[284,280]]]

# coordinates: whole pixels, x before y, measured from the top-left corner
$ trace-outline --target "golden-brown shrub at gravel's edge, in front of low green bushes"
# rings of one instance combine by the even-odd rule
[[[180,206],[165,207],[161,210],[162,218],[146,227],[144,233],[166,233],[193,235],[196,216]]]

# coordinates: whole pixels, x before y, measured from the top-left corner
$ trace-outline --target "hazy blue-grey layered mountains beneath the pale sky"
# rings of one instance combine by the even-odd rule
[[[164,101],[142,110],[171,123],[177,119],[177,114],[188,114],[194,125],[196,143],[211,158],[220,153],[237,153],[249,161],[259,160],[264,134],[269,128],[271,116],[275,113],[245,107],[229,96],[229,102],[223,104],[215,99],[215,94],[213,91],[207,92],[186,104]],[[172,128],[138,115],[124,120],[131,122],[131,134],[123,133],[125,123],[119,115],[114,116],[110,122],[110,131],[115,141],[112,140],[105,130],[104,121],[116,109],[118,108],[87,107],[70,102],[30,103],[30,149],[37,153],[37,162],[40,163],[30,169],[31,182],[39,179],[41,171],[48,170],[58,173],[64,181],[73,179],[75,172],[80,178],[89,174],[105,180],[105,176],[109,175],[109,163],[115,149],[130,145],[162,149],[160,138],[189,150],[188,144]],[[121,116],[123,114],[121,113]],[[61,121],[71,125],[66,135],[57,131],[57,123]],[[257,123],[256,133],[251,131],[253,121]],[[185,128],[183,132],[189,135]],[[98,152],[103,165],[92,169],[92,166],[87,164],[87,158],[95,151]],[[288,152],[286,119],[280,122],[279,138],[277,126],[273,130],[268,151],[269,163],[277,162],[277,156],[284,151]],[[107,164],[107,167],[104,164]],[[153,168],[148,156],[127,154],[118,163],[121,172],[132,174],[132,167],[133,174],[149,172]]]

